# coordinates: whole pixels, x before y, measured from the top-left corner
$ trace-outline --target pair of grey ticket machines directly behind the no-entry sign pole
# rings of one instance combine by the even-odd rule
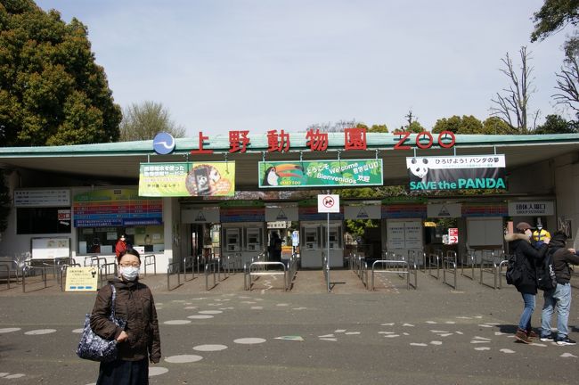
[[[300,257],[302,267],[322,268],[322,255],[328,252],[328,242],[330,242],[330,267],[344,266],[342,221],[330,221],[329,233],[327,233],[328,224],[325,222],[302,221],[300,225]]]

